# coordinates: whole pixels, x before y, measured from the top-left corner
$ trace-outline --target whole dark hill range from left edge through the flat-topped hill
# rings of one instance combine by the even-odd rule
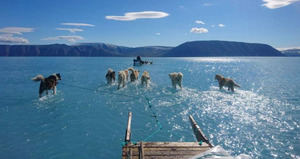
[[[284,56],[266,44],[229,41],[193,41],[177,47],[125,47],[105,43],[77,45],[0,45],[0,56]]]

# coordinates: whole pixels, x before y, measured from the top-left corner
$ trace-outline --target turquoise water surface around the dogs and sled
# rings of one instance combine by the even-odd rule
[[[300,157],[300,58],[151,60],[136,67],[149,71],[149,88],[117,90],[106,70],[128,68],[132,58],[0,58],[0,158],[120,158],[128,111],[133,141],[195,141],[191,114],[216,145],[200,158]],[[183,89],[174,90],[168,73],[179,71]],[[57,95],[39,99],[31,78],[55,72]],[[241,88],[220,91],[216,73]],[[162,126],[155,134],[151,110]]]

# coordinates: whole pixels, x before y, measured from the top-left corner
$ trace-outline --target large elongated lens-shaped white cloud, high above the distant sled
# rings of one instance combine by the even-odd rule
[[[169,16],[168,13],[158,11],[143,11],[143,12],[128,12],[124,16],[105,16],[106,19],[119,20],[119,21],[131,21],[136,19],[153,19],[164,18]]]

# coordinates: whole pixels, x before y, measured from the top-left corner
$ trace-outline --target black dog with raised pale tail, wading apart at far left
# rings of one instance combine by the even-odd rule
[[[32,78],[33,81],[41,81],[40,89],[39,89],[39,97],[42,97],[42,93],[46,91],[48,94],[48,90],[53,90],[53,94],[56,94],[56,85],[58,84],[58,80],[61,80],[60,74],[56,73],[50,75],[47,78],[44,78],[43,75],[37,75]]]

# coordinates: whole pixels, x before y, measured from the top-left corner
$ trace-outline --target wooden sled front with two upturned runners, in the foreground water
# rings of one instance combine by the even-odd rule
[[[201,131],[194,118],[189,116],[194,135],[198,142],[137,142],[132,143],[131,119],[128,114],[125,145],[122,147],[122,159],[184,159],[198,155],[213,147]]]

